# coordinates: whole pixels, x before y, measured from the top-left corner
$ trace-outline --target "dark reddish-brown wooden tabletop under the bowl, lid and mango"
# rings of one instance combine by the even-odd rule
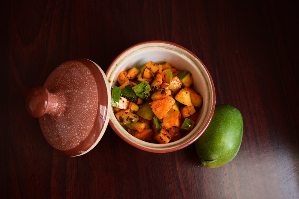
[[[292,1],[1,1],[3,198],[299,198],[298,14]],[[165,40],[206,65],[216,104],[244,118],[233,161],[200,165],[194,145],[156,154],[108,127],[88,154],[45,141],[25,97],[54,68],[106,71],[127,47]]]

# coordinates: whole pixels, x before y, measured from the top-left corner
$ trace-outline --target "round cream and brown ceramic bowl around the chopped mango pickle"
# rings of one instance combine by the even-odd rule
[[[193,87],[203,97],[203,104],[193,130],[184,133],[179,140],[167,144],[141,141],[129,134],[118,123],[112,107],[110,107],[109,125],[120,138],[138,149],[157,153],[173,152],[192,144],[208,127],[216,102],[213,80],[202,61],[184,47],[166,41],[147,41],[126,49],[110,64],[106,71],[109,87],[112,88],[113,85],[117,84],[117,77],[121,71],[131,67],[139,68],[148,61],[153,61],[154,63],[167,61],[177,69],[189,70],[191,72],[194,82]]]

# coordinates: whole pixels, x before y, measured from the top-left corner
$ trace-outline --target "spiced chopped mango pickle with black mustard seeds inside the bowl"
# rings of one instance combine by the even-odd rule
[[[190,71],[149,61],[120,72],[117,82],[111,105],[132,136],[166,144],[193,129],[203,99],[192,88]]]

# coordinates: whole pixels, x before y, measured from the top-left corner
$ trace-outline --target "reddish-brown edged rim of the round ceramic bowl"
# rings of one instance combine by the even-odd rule
[[[194,58],[196,58],[201,64],[202,66],[204,67],[205,71],[207,72],[208,74],[208,78],[210,80],[210,83],[211,83],[211,87],[212,87],[212,107],[211,107],[211,112],[208,116],[208,119],[206,121],[206,123],[203,125],[202,129],[200,129],[200,131],[196,134],[196,136],[194,136],[192,139],[188,140],[187,142],[185,142],[184,144],[181,144],[179,146],[173,146],[173,147],[169,147],[169,148],[152,148],[152,147],[145,147],[145,146],[141,146],[137,143],[135,143],[134,141],[126,138],[122,133],[120,133],[118,131],[118,129],[116,128],[116,124],[113,123],[111,117],[109,118],[109,125],[110,127],[112,127],[112,129],[115,131],[115,133],[121,138],[123,139],[124,141],[126,141],[128,144],[138,148],[138,149],[141,149],[141,150],[144,150],[144,151],[147,151],[147,152],[155,152],[155,153],[166,153],[166,152],[173,152],[173,151],[177,151],[177,150],[180,150],[180,149],[183,149],[187,146],[189,146],[190,144],[192,144],[193,142],[195,142],[204,132],[205,130],[207,129],[208,125],[210,124],[210,121],[213,117],[213,114],[214,114],[214,110],[215,110],[215,105],[216,105],[216,93],[215,93],[215,86],[214,86],[214,83],[213,83],[213,79],[210,75],[210,72],[208,71],[207,67],[205,66],[205,64],[194,54],[192,53],[190,50],[188,50],[187,48],[185,47],[182,47],[181,45],[179,44],[175,44],[173,42],[170,42],[170,41],[163,41],[163,40],[150,40],[150,41],[143,41],[143,42],[140,42],[140,43],[137,43],[137,44],[134,44],[128,48],[126,48],[125,50],[123,50],[112,62],[111,64],[109,65],[108,69],[106,70],[106,76],[107,78],[109,78],[108,74],[110,72],[110,70],[112,70],[113,66],[115,65],[115,62],[121,57],[123,56],[124,53],[130,51],[131,49],[135,48],[135,47],[138,47],[138,46],[141,46],[141,45],[145,45],[145,44],[151,44],[151,43],[159,43],[159,44],[167,44],[167,45],[172,45],[174,47],[178,47],[184,51],[186,51],[187,53],[190,53],[192,56],[194,56]],[[112,109],[112,107],[110,107]],[[113,113],[113,110],[110,111],[111,113]],[[111,114],[112,115],[112,114]],[[114,116],[114,114],[113,114]],[[112,116],[112,117],[113,117]],[[136,138],[137,139],[137,138]],[[158,144],[158,145],[161,145],[161,144]]]

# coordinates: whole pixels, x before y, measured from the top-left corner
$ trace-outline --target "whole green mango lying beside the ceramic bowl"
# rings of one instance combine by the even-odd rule
[[[234,159],[243,136],[243,118],[235,107],[217,105],[205,132],[195,141],[196,152],[204,166],[219,167]]]

